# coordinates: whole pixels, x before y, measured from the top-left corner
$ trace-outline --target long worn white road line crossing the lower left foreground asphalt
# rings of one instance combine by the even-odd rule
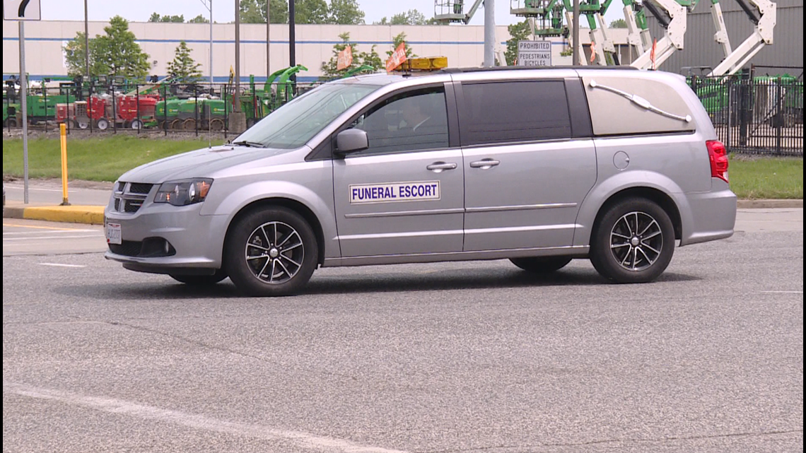
[[[223,434],[245,435],[264,440],[276,440],[312,450],[342,453],[405,453],[405,451],[388,450],[381,447],[366,447],[351,443],[345,439],[318,436],[304,431],[277,430],[268,426],[227,422],[226,420],[219,420],[218,418],[187,414],[178,410],[161,409],[152,405],[141,405],[133,401],[106,397],[90,397],[53,389],[38,389],[30,385],[17,384],[5,380],[2,383],[2,391],[3,393],[15,393],[23,397],[54,400],[64,404],[97,409],[111,414],[123,414],[146,420],[176,423],[177,425],[188,426],[196,430],[208,430]]]

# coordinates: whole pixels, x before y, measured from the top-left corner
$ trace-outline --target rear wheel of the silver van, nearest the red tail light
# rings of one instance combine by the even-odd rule
[[[669,214],[645,198],[610,206],[593,227],[591,263],[615,283],[646,283],[657,278],[675,252]]]

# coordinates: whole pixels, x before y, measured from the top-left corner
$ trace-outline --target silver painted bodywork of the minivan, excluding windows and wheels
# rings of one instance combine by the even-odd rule
[[[135,213],[116,211],[113,194],[105,211],[107,220],[121,224],[124,241],[161,237],[177,254],[141,257],[108,251],[106,258],[144,264],[156,272],[219,268],[226,232],[237,216],[256,203],[280,199],[304,206],[314,215],[322,232],[321,263],[325,266],[585,257],[601,207],[628,189],[654,190],[674,203],[681,245],[732,235],[736,197],[725,181],[711,177],[705,147],[706,140],[717,139],[716,132],[683,78],[629,70],[608,70],[606,78],[602,74],[596,69],[535,69],[425,77],[373,75],[331,82],[382,86],[344,110],[301,148],[224,145],[158,160],[124,174],[119,181],[154,186]],[[450,88],[463,81],[574,77],[581,81],[599,77],[603,83],[625,90],[644,83],[664,85],[678,93],[679,99],[653,98],[646,87],[638,91],[653,105],[682,112],[690,121],[674,130],[676,123],[663,117],[671,130],[662,133],[464,148],[451,139],[450,148],[332,158],[326,154],[309,159],[316,154],[314,150],[329,146],[351,118],[407,89],[424,85]],[[626,82],[619,85],[622,77]],[[446,89],[446,94],[452,96],[453,90]],[[618,102],[628,102],[630,106],[623,108],[637,108],[632,106],[635,102],[613,96],[621,98]],[[455,104],[449,100],[449,105]],[[606,114],[602,109],[591,111]],[[603,130],[616,130],[613,122],[619,121],[619,115],[611,116],[594,118],[593,123]],[[654,121],[659,114],[647,110],[633,112],[632,117]],[[271,121],[271,115],[263,121]],[[434,164],[456,165],[434,171],[429,168]],[[204,202],[189,206],[154,203],[161,183],[193,177],[214,180]],[[416,200],[391,199],[390,193],[405,185],[417,185],[420,190],[428,186],[430,191]]]

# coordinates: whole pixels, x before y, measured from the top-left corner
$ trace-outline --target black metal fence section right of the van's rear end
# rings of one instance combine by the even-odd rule
[[[728,152],[804,155],[803,71],[751,77],[690,77]]]

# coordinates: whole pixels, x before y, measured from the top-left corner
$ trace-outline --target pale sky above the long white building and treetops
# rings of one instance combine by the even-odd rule
[[[209,0],[208,0],[209,1]],[[213,20],[218,23],[235,20],[235,0],[212,0]],[[443,2],[444,0],[439,0]],[[464,0],[469,10],[475,0]],[[509,14],[511,0],[494,0],[496,25],[509,25],[522,19]],[[84,20],[84,0],[40,0],[43,20]],[[521,3],[523,0],[521,0]],[[405,10],[420,11],[426,18],[434,16],[434,0],[358,0],[364,10],[366,23],[379,22]],[[517,4],[517,0],[513,3]],[[607,23],[621,18],[620,2],[613,2],[605,19]],[[87,0],[89,20],[107,21],[121,15],[130,22],[146,22],[152,13],[160,15],[185,15],[185,20],[197,15],[209,17],[210,13],[202,0],[164,0],[162,2],[122,2],[119,0]],[[584,22],[584,21],[583,21]],[[480,7],[471,20],[471,25],[484,25],[484,8]]]

